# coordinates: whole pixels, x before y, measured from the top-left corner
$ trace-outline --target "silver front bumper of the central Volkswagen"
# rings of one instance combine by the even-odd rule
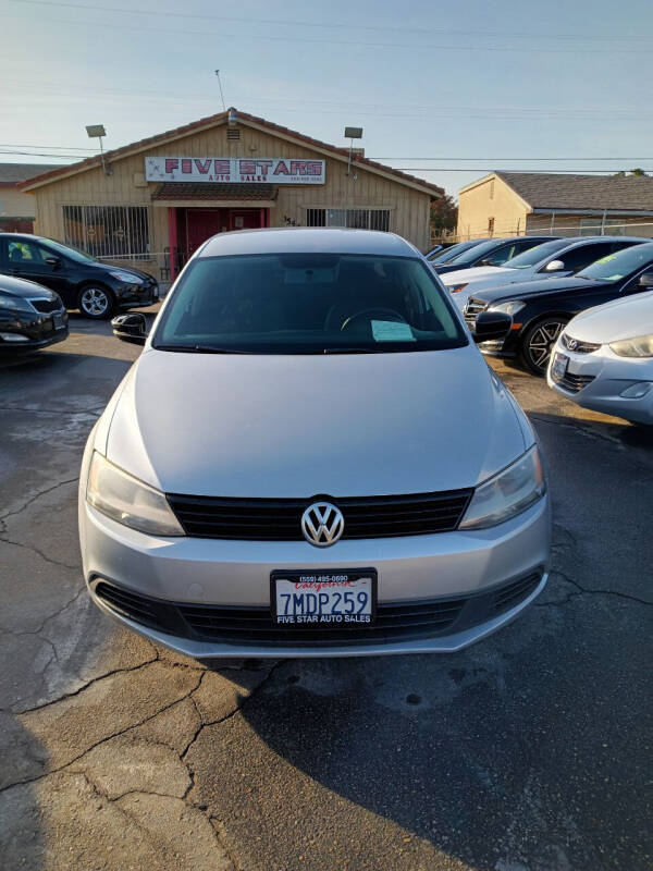
[[[196,658],[345,657],[460,650],[509,623],[543,589],[549,571],[551,511],[549,498],[493,529],[442,532],[393,539],[344,540],[317,551],[307,542],[238,542],[197,538],[156,538],[124,527],[79,499],[79,535],[84,576],[91,598],[114,618],[152,640]],[[167,630],[143,614],[155,604],[250,610],[270,609],[270,575],[275,569],[349,569],[373,566],[379,577],[379,605],[465,600],[460,618],[445,630],[403,637],[350,637],[325,642],[291,634],[266,641],[241,633],[200,637]],[[501,613],[489,605],[507,584],[521,584],[519,600]],[[534,579],[533,579],[534,578]],[[112,608],[97,594],[98,584],[144,597],[144,610]],[[504,593],[505,594],[505,593]],[[492,599],[494,601],[494,599]],[[504,600],[505,601],[505,600]],[[515,601],[515,606],[512,602]],[[148,605],[149,602],[149,605]],[[136,617],[136,618],[134,618]],[[150,625],[146,625],[149,623]],[[169,624],[170,625],[170,624]],[[287,638],[287,641],[286,641]]]

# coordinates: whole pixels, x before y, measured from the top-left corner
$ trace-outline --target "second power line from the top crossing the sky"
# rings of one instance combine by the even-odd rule
[[[13,2],[29,2],[29,3],[46,3],[46,0],[12,0]],[[61,4],[63,5],[63,3]],[[106,11],[100,10],[99,8],[97,11]],[[111,10],[109,10],[111,11]],[[120,11],[130,11],[134,12],[135,10],[120,10]],[[156,13],[151,13],[156,14]],[[14,16],[15,17],[15,16]],[[106,21],[97,22],[97,21],[71,21],[70,19],[44,19],[39,17],[39,23],[47,22],[52,24],[65,24],[65,25],[83,25],[83,26],[90,26],[97,27],[98,24],[101,24],[102,27],[109,27],[113,29],[121,30],[125,33],[125,30],[133,30],[136,33],[136,27],[127,27],[124,24],[110,24]],[[140,33],[140,32],[138,32]],[[276,42],[292,42],[294,45],[297,44],[318,44],[318,45],[331,45],[331,46],[357,46],[357,47],[367,47],[367,48],[395,48],[395,49],[409,49],[410,51],[415,51],[416,49],[422,49],[427,51],[491,51],[491,52],[519,52],[519,53],[538,53],[538,54],[602,54],[605,56],[605,48],[596,48],[596,49],[578,49],[578,48],[570,48],[570,49],[563,49],[563,48],[532,48],[531,46],[526,46],[523,48],[515,47],[515,46],[470,46],[470,45],[433,45],[428,42],[364,42],[361,40],[350,40],[350,39],[311,39],[306,38],[304,36],[273,36],[271,34],[266,34],[263,36],[256,36],[254,34],[226,34],[222,30],[183,30],[181,28],[170,29],[167,27],[147,27],[147,33],[159,33],[159,34],[170,34],[171,36],[180,36],[184,34],[186,36],[210,36],[210,37],[220,37],[222,39],[229,39],[230,41],[276,41]],[[650,49],[633,49],[633,48],[614,48],[611,47],[611,54],[617,53],[627,53],[627,54],[646,54],[651,53]]]

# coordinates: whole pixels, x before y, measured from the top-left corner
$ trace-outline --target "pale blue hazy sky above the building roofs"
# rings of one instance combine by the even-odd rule
[[[0,15],[2,161],[86,157],[87,124],[109,149],[219,112],[219,69],[226,106],[334,145],[362,126],[367,157],[452,195],[493,169],[653,172],[651,0],[0,0]]]

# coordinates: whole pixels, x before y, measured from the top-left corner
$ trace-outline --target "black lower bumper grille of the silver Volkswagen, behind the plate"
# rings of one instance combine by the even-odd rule
[[[380,603],[373,624],[313,630],[278,626],[266,605],[242,608],[164,602],[106,580],[99,580],[94,591],[114,613],[182,638],[243,645],[321,646],[343,641],[384,643],[429,638],[449,630],[461,631],[523,601],[541,577],[541,573],[534,572],[498,590],[469,598]]]

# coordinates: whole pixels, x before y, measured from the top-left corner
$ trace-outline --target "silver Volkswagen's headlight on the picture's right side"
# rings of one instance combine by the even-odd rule
[[[485,529],[526,511],[546,492],[538,446],[475,490],[459,529]]]

